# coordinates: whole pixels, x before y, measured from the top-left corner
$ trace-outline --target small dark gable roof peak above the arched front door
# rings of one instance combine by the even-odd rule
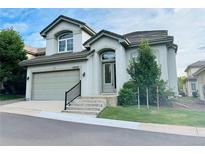
[[[107,31],[107,30],[103,29],[103,30],[99,31],[96,35],[94,35],[93,37],[88,39],[86,42],[84,42],[83,45],[85,47],[88,47],[91,43],[95,42],[96,40],[98,40],[102,36],[107,36],[107,37],[117,39],[123,45],[129,45],[130,44],[129,40],[125,36],[119,35],[117,33],[113,33],[113,32],[110,32],[110,31]]]

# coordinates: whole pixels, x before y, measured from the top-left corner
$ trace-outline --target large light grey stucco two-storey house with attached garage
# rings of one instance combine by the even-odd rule
[[[161,78],[178,94],[174,37],[166,30],[96,33],[84,22],[59,16],[40,32],[46,55],[20,63],[27,67],[27,100],[64,100],[79,81],[81,96],[117,96],[130,77],[129,60],[145,39],[161,66]],[[79,85],[79,84],[78,84]]]

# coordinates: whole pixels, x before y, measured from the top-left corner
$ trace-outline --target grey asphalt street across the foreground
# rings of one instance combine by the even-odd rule
[[[0,113],[0,145],[205,145],[205,138]]]

